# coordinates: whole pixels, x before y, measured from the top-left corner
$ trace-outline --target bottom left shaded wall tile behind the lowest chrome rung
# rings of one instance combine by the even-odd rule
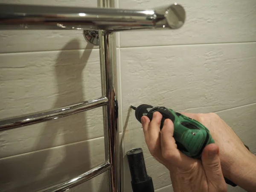
[[[7,157],[0,159],[0,189],[1,192],[36,191],[80,175],[104,160],[102,137]],[[105,174],[76,187],[73,192],[84,189],[107,192]]]

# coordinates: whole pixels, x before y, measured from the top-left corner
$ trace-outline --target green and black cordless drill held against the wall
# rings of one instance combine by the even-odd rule
[[[160,130],[163,128],[164,120],[171,119],[174,124],[173,137],[177,148],[189,157],[200,158],[204,147],[210,143],[214,143],[209,130],[204,125],[172,109],[153,107],[147,104],[139,105],[137,108],[132,105],[130,107],[135,110],[135,117],[140,123],[142,116],[147,116],[151,121],[153,113],[156,111],[160,112],[163,116]],[[249,148],[247,147],[247,149]],[[236,186],[235,183],[227,178],[225,178],[225,181],[231,186]]]

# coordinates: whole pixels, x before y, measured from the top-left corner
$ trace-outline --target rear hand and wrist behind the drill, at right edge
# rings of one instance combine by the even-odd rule
[[[256,156],[215,113],[182,113],[206,126],[219,146],[223,175],[247,191],[256,189]]]

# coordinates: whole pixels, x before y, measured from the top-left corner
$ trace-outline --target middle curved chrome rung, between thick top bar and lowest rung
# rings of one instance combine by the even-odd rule
[[[42,111],[39,113],[27,114],[24,116],[17,116],[9,119],[0,120],[0,131],[12,128],[23,127],[26,125],[32,125],[39,122],[45,122],[52,119],[58,119],[64,116],[73,115],[89,109],[101,107],[108,104],[108,98],[102,96],[98,99],[91,101],[85,101],[68,105],[62,108],[54,109],[52,111]]]

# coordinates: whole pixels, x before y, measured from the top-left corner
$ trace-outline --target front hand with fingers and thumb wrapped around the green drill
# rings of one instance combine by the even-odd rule
[[[152,156],[170,171],[175,192],[226,192],[225,183],[216,144],[204,148],[201,160],[192,159],[177,149],[173,138],[174,125],[166,119],[160,131],[162,115],[154,112],[150,122],[142,117],[145,142]]]

